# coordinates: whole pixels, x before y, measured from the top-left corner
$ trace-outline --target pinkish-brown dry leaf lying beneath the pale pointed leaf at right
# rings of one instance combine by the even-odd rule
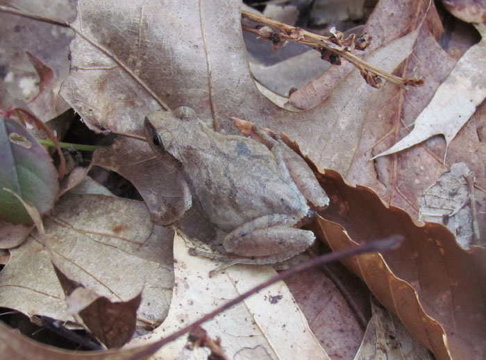
[[[371,157],[385,151],[408,133],[407,124],[412,123],[419,112],[426,107],[435,89],[451,71],[454,60],[442,50],[427,28],[422,28],[419,40],[414,46],[413,57],[408,60],[408,69],[418,68],[422,74],[430,74],[422,87],[403,91],[385,85],[371,105],[360,137],[360,145],[353,158],[351,168],[342,173],[352,185],[371,187],[388,203],[401,207],[411,216],[418,216],[419,198],[430,184],[447,171],[444,166],[445,142],[442,138],[429,139],[420,146],[414,146],[390,157]],[[448,160],[467,162],[471,171],[477,174],[478,186],[486,186],[486,146],[478,139],[483,112],[477,111],[475,121],[470,121],[459,132],[449,146]],[[478,201],[484,194],[478,191]]]

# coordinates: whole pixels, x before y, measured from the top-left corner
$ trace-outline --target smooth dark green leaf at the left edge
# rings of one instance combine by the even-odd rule
[[[26,209],[10,192],[45,214],[59,192],[56,168],[35,137],[12,119],[0,120],[0,219],[31,225]]]

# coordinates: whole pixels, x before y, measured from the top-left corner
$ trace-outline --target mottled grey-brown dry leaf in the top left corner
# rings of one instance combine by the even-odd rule
[[[61,22],[67,22],[75,14],[75,4],[72,1],[46,0],[26,3],[10,0],[5,5],[6,8],[26,6],[28,13],[59,19]],[[8,89],[12,98],[28,103],[28,108],[43,121],[65,112],[69,105],[62,100],[58,92],[62,80],[69,74],[67,45],[74,33],[68,28],[3,11],[0,11],[0,33],[0,48],[4,49],[0,59],[2,87]],[[44,89],[40,89],[42,73],[36,73],[24,51],[35,55],[38,60],[42,60],[47,69],[53,71],[53,77],[49,84],[44,83],[47,85]],[[45,101],[47,98],[48,102]]]

